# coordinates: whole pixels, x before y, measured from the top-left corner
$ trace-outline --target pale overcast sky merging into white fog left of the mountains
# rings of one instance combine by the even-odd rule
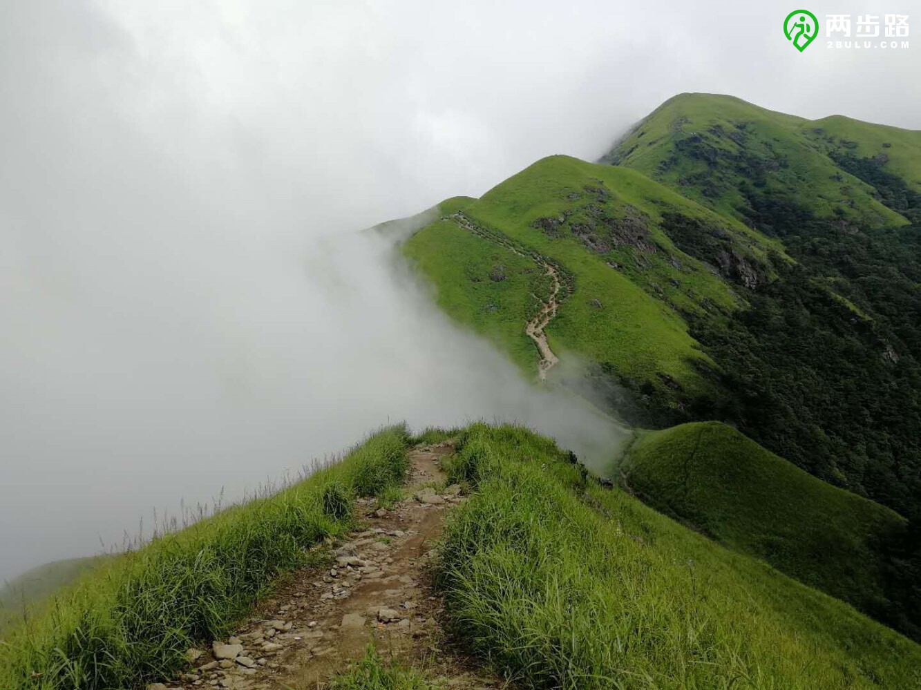
[[[790,8],[0,0],[0,579],[388,419],[614,444],[354,231],[597,158],[682,91],[921,128],[921,34],[800,54]]]

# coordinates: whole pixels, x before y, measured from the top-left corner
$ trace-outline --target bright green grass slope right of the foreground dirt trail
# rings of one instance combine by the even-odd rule
[[[527,687],[921,686],[921,648],[621,490],[474,425],[438,560],[450,630]]]

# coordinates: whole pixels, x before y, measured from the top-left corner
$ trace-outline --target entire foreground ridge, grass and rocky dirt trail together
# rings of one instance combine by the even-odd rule
[[[442,674],[436,614],[495,677]],[[911,640],[602,486],[550,439],[475,424],[383,429],[274,496],[112,559],[5,634],[0,686],[312,687],[381,630],[391,663],[371,652],[333,686],[426,687],[426,668],[396,663],[419,659],[434,687],[921,684]],[[214,657],[194,649],[212,640]]]

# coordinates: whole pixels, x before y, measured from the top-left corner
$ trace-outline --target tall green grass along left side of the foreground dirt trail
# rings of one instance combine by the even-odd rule
[[[356,496],[403,482],[406,428],[341,462],[112,559],[0,640],[3,690],[124,688],[172,677],[311,547],[348,531]]]

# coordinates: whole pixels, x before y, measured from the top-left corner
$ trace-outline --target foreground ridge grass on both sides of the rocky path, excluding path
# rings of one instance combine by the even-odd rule
[[[434,560],[454,642],[523,687],[909,688],[921,647],[853,608],[604,488],[554,442],[472,427],[443,462],[470,498]],[[174,678],[280,575],[325,563],[357,496],[407,478],[384,429],[280,493],[227,509],[95,569],[0,644],[0,687],[97,690]],[[827,522],[838,516],[811,514]],[[345,660],[341,660],[345,661]],[[343,664],[344,665],[344,664]],[[332,687],[423,688],[373,647]]]

